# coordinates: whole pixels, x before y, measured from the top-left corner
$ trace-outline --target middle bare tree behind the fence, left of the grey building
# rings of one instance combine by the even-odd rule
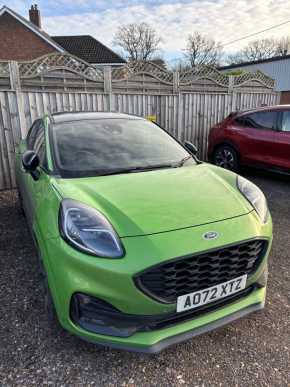
[[[191,67],[218,65],[221,55],[221,46],[213,39],[208,39],[199,32],[194,32],[188,36],[185,57]]]

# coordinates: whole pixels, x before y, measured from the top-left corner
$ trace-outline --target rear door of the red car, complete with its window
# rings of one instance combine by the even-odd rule
[[[239,142],[244,163],[273,165],[278,113],[270,110],[253,112],[238,117],[236,121],[241,126]]]

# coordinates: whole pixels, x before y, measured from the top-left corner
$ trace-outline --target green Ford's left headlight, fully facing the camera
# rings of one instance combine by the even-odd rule
[[[59,228],[63,239],[83,252],[106,258],[124,255],[120,239],[108,220],[83,203],[62,201]]]

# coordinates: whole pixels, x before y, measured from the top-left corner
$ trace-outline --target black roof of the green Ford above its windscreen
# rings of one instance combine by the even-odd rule
[[[142,120],[144,118],[133,116],[124,113],[108,113],[108,112],[60,112],[51,115],[51,119],[55,123],[80,121],[80,120],[100,120],[100,119],[129,119]]]

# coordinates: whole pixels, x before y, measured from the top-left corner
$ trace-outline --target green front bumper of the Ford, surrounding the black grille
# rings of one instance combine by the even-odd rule
[[[202,235],[213,228],[219,233],[220,238],[204,240]],[[268,239],[269,245],[259,267],[248,277],[247,288],[253,286],[253,290],[230,303],[220,305],[218,309],[205,310],[204,313],[193,315],[190,320],[177,321],[170,326],[136,330],[127,337],[107,335],[106,330],[103,334],[99,334],[84,329],[71,318],[70,304],[75,293],[91,295],[112,305],[123,314],[140,316],[140,319],[150,316],[156,320],[158,316],[174,314],[175,303],[158,302],[136,287],[133,280],[136,273],[189,252],[194,254],[258,237]],[[263,307],[265,287],[254,285],[259,283],[266,270],[271,238],[271,219],[262,225],[253,211],[245,216],[211,225],[144,237],[123,238],[126,256],[118,260],[87,256],[75,251],[61,238],[46,240],[41,251],[45,255],[44,263],[58,319],[65,329],[102,345],[142,352],[158,352],[171,344],[224,325]]]

